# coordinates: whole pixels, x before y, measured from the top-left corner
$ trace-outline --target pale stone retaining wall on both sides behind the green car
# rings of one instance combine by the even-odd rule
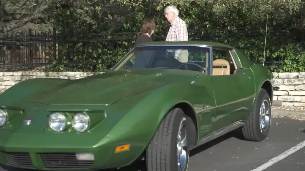
[[[0,72],[0,89],[8,89],[20,81],[34,78],[79,79],[102,72]],[[282,106],[305,106],[305,72],[273,73],[274,100],[283,101]]]

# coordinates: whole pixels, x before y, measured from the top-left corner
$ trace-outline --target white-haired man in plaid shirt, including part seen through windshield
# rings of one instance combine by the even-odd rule
[[[179,10],[174,5],[169,5],[164,9],[165,17],[170,22],[165,41],[188,41],[188,29],[185,22],[179,18]],[[188,61],[187,49],[168,49],[167,56],[174,56],[180,62]]]

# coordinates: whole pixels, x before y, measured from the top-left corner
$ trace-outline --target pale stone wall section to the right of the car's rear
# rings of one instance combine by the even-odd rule
[[[273,92],[274,100],[283,101],[282,106],[305,106],[305,72],[273,73],[275,85],[280,89]]]

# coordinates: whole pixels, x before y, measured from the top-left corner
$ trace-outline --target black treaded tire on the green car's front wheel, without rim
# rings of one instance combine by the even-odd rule
[[[178,169],[178,132],[180,125],[186,129],[186,158],[182,171],[186,171],[189,158],[189,131],[187,118],[180,108],[174,108],[161,122],[146,149],[147,171],[181,171]]]

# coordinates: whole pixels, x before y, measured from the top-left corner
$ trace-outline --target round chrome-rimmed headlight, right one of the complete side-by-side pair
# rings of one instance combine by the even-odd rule
[[[90,120],[85,113],[77,112],[74,113],[71,124],[75,131],[83,133],[88,130]]]

